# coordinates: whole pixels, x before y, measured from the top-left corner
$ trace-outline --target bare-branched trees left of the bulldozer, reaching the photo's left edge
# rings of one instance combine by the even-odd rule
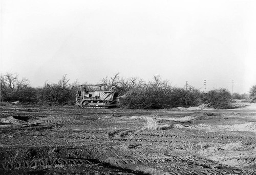
[[[58,83],[45,82],[43,87],[34,88],[28,79],[19,80],[16,73],[1,74],[1,102],[74,105],[76,90],[77,82],[69,83],[66,75]]]

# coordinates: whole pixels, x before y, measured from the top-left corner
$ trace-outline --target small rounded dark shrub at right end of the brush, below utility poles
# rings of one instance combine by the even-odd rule
[[[202,102],[217,109],[231,108],[232,95],[226,88],[210,90],[203,94]]]

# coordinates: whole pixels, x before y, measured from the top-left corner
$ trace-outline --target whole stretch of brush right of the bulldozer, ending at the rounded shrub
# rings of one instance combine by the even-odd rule
[[[114,81],[113,81],[114,80]],[[119,106],[126,109],[164,109],[177,106],[199,106],[207,104],[214,108],[230,108],[231,93],[225,89],[201,92],[193,86],[180,88],[171,86],[167,80],[154,76],[152,81],[145,82],[139,78],[105,78],[103,82],[111,82],[118,86],[120,97]]]

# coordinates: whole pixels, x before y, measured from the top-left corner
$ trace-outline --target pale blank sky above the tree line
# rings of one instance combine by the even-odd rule
[[[256,85],[256,1],[1,1],[1,73],[34,87],[120,75],[245,93]]]

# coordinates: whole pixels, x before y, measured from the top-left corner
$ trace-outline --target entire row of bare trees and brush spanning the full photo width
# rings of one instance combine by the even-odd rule
[[[145,82],[136,77],[123,78],[116,73],[113,77],[103,78],[99,83],[104,84],[104,90],[116,86],[120,107],[127,109],[164,109],[201,104],[226,109],[230,108],[232,99],[256,98],[256,85],[251,87],[249,95],[234,93],[232,96],[225,88],[202,92],[189,85],[184,88],[171,86],[160,76],[154,76],[152,81]],[[67,75],[64,75],[58,83],[45,82],[44,86],[34,88],[30,86],[28,79],[19,79],[16,73],[1,74],[1,102],[74,105],[77,85],[77,81],[71,83]]]

